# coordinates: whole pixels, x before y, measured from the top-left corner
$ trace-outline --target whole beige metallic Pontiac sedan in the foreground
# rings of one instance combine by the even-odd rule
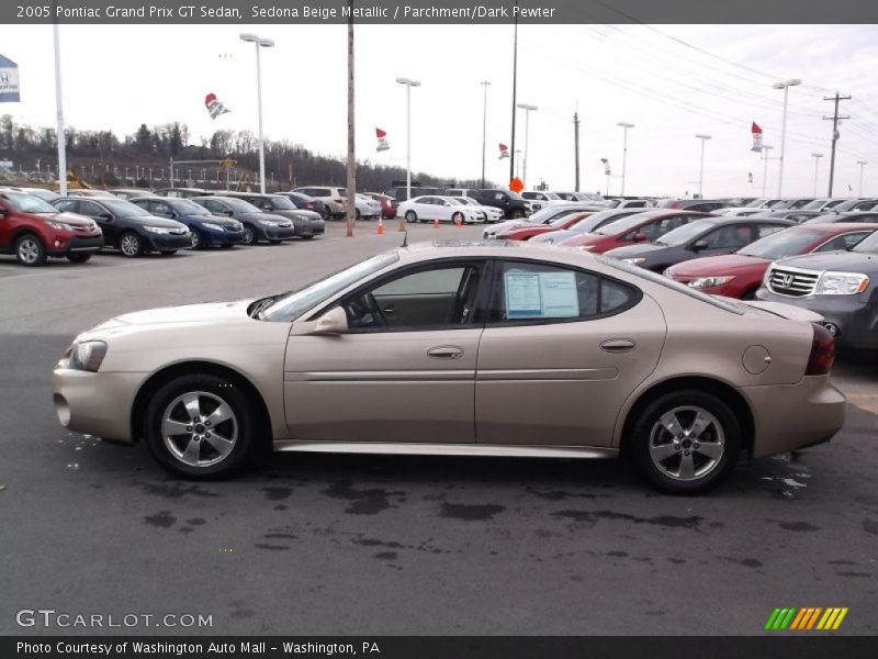
[[[630,456],[702,491],[742,453],[844,422],[807,310],[711,298],[603,256],[503,242],[394,249],[295,292],[130,313],[54,371],[67,428],[144,439],[187,478],[275,450]]]

